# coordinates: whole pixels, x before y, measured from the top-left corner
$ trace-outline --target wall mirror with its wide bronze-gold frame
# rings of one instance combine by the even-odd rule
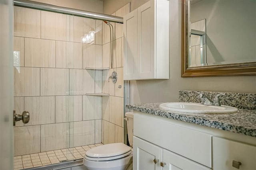
[[[182,0],[182,77],[256,75],[256,0]]]

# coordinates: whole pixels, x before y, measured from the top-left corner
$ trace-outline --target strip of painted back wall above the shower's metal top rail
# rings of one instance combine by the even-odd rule
[[[103,13],[103,1],[100,0],[33,0],[46,4],[64,6],[78,10]]]

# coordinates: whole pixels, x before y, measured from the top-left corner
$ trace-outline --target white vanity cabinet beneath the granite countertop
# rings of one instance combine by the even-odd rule
[[[134,111],[133,139],[134,170],[256,170],[255,137]]]

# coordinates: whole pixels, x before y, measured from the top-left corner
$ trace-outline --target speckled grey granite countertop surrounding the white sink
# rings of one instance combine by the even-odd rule
[[[256,110],[238,109],[236,113],[182,113],[161,109],[160,104],[162,103],[130,104],[126,108],[256,137]]]

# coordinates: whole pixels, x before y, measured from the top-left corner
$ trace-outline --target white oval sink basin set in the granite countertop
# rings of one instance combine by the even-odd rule
[[[200,103],[163,103],[159,106],[162,109],[169,111],[180,111],[188,113],[233,113],[238,111],[236,107],[231,106],[207,106]]]

